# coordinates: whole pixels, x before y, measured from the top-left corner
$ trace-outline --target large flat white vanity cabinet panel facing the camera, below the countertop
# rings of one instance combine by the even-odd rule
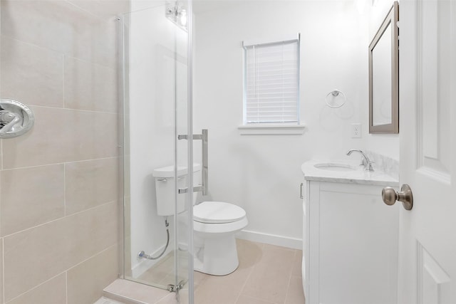
[[[311,182],[309,304],[395,304],[398,206],[382,187]]]

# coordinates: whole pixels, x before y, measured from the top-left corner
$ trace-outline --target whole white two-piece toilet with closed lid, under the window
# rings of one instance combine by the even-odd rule
[[[199,181],[201,166],[194,165],[194,180]],[[174,167],[155,169],[155,189],[157,196],[157,213],[160,216],[172,216]],[[187,168],[177,167],[177,187],[185,188]],[[198,184],[195,182],[195,184]],[[196,194],[193,196],[195,204]],[[185,196],[177,194],[177,213],[185,211]],[[239,266],[236,240],[234,234],[247,226],[247,216],[239,206],[222,201],[203,201],[193,207],[193,229],[195,250],[195,271],[214,276],[232,273]]]

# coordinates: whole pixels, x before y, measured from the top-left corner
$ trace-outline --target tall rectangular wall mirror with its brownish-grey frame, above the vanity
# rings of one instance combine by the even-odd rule
[[[399,133],[399,6],[369,45],[369,133]]]

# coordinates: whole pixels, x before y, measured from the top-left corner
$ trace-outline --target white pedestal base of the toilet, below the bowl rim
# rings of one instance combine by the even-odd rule
[[[195,271],[213,276],[226,276],[238,266],[234,234],[205,234],[205,238],[202,239],[195,233]]]

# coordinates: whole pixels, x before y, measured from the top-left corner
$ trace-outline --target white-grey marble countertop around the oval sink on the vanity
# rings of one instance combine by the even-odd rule
[[[317,164],[343,164],[351,167],[350,171],[333,171],[331,169],[320,169],[315,167]],[[374,167],[375,169],[375,167]],[[301,165],[301,170],[304,173],[304,179],[317,182],[338,182],[348,184],[369,184],[378,186],[398,187],[399,181],[395,177],[391,177],[382,171],[369,172],[364,170],[358,162],[349,162],[346,160],[324,160],[314,159],[309,162],[304,162]]]

